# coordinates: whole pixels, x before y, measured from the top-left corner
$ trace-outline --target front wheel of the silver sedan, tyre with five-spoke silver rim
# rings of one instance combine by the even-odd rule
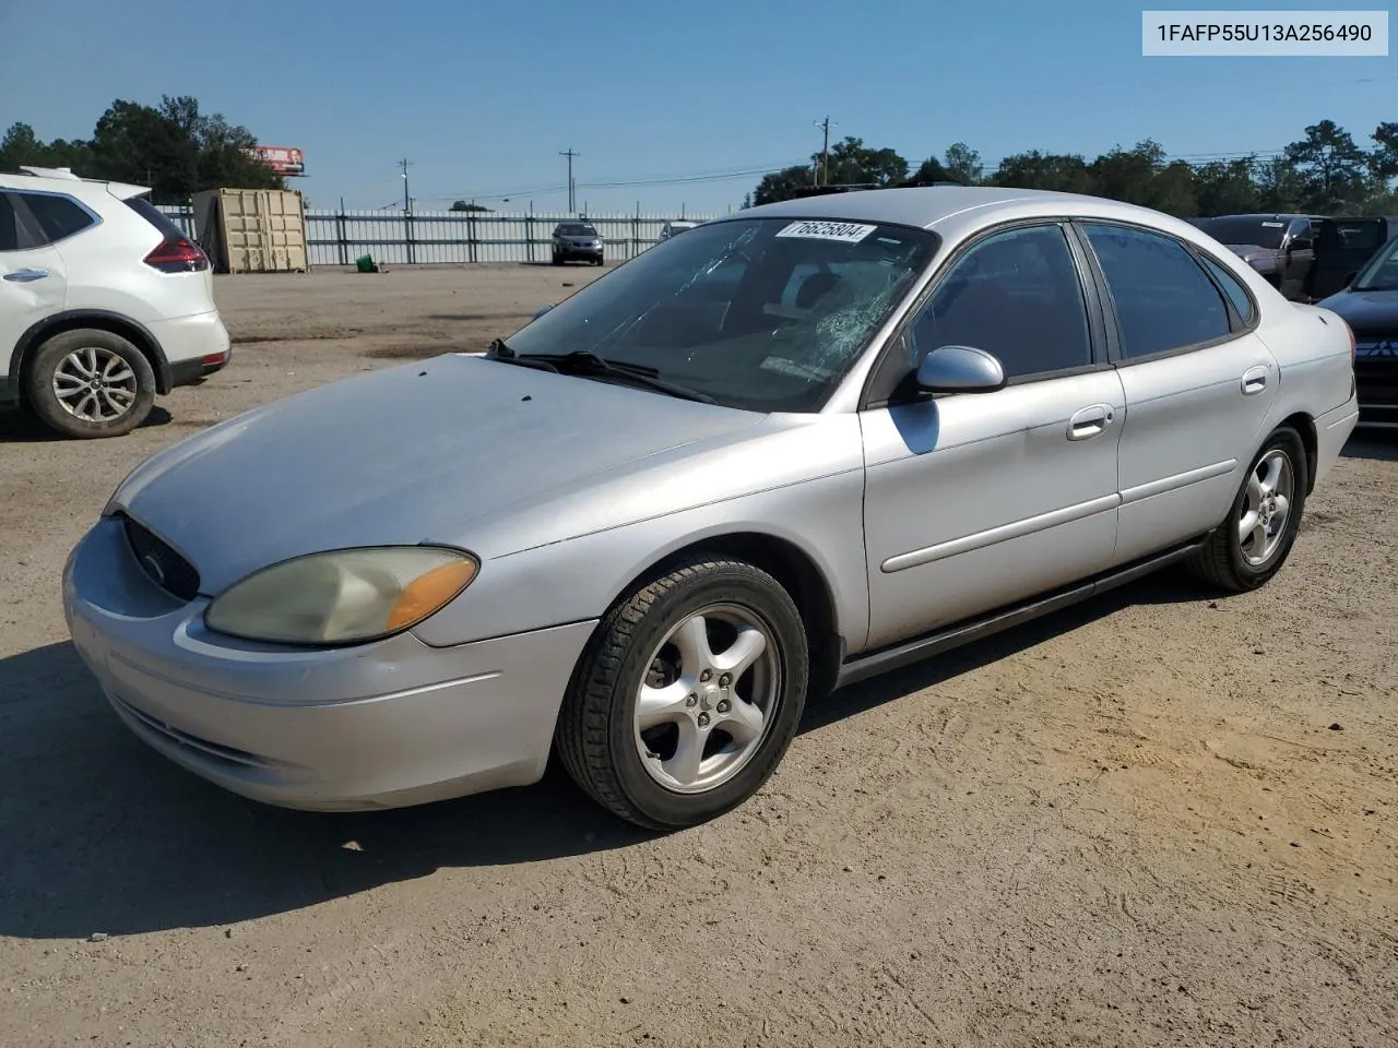
[[[698,558],[604,616],[563,703],[558,752],[621,819],[695,826],[741,805],[776,770],[808,672],[787,591],[752,565]]]

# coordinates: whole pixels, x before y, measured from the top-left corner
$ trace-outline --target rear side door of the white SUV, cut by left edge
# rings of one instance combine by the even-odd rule
[[[63,256],[20,194],[0,191],[0,376],[24,333],[60,313],[66,298]]]

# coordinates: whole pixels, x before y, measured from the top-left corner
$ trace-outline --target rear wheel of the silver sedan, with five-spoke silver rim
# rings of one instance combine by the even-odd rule
[[[1227,518],[1190,562],[1192,573],[1229,592],[1265,584],[1296,542],[1309,488],[1306,446],[1283,426],[1257,453]]]

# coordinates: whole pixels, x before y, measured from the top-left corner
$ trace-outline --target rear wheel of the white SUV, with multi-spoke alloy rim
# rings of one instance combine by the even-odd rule
[[[38,348],[25,367],[24,391],[39,421],[64,436],[122,436],[151,414],[155,372],[126,338],[80,328]]]

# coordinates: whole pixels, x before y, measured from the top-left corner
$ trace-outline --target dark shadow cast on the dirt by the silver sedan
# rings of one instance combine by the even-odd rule
[[[836,692],[802,731],[956,678],[1131,602],[1201,591],[1144,580]],[[419,808],[316,815],[245,801],[138,742],[70,643],[0,660],[0,935],[75,939],[207,928],[299,910],[442,868],[630,847],[654,834],[586,799],[551,762],[533,787]]]

